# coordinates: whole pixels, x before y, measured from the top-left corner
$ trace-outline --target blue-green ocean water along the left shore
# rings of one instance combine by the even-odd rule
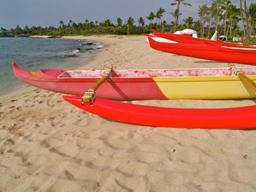
[[[0,95],[26,86],[13,76],[13,62],[34,71],[40,68],[71,69],[85,65],[86,58],[92,57],[98,47],[102,47],[99,42],[86,40],[0,38]]]

